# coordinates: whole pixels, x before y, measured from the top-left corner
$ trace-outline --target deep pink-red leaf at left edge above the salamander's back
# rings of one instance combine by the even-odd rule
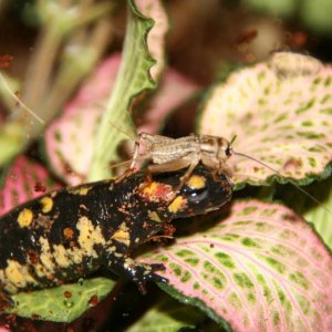
[[[0,215],[51,189],[61,187],[52,179],[46,168],[24,156],[19,156],[11,166],[4,169],[0,180]]]

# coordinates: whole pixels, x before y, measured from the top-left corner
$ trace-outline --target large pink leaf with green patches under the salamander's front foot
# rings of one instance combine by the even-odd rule
[[[235,331],[329,331],[332,259],[312,228],[279,204],[236,201],[229,217],[156,250],[175,298]],[[162,272],[160,272],[162,273]]]

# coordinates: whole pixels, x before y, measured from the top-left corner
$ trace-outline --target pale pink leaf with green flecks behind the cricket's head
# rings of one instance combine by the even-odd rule
[[[203,107],[199,133],[236,135],[236,152],[278,172],[232,156],[228,164],[238,187],[273,178],[308,184],[331,173],[331,121],[332,66],[284,52],[216,85]]]

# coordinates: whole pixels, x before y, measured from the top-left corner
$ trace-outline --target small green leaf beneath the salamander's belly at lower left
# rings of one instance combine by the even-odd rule
[[[18,293],[12,295],[15,307],[8,313],[70,323],[103,300],[114,284],[112,279],[93,278],[56,288]]]

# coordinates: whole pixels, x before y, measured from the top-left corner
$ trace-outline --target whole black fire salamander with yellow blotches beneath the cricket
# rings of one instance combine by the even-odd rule
[[[174,218],[218,209],[231,198],[226,175],[198,165],[177,193],[184,172],[144,174],[51,191],[0,218],[0,298],[79,280],[102,267],[145,292],[160,263],[129,257]],[[9,304],[7,304],[9,305]]]

